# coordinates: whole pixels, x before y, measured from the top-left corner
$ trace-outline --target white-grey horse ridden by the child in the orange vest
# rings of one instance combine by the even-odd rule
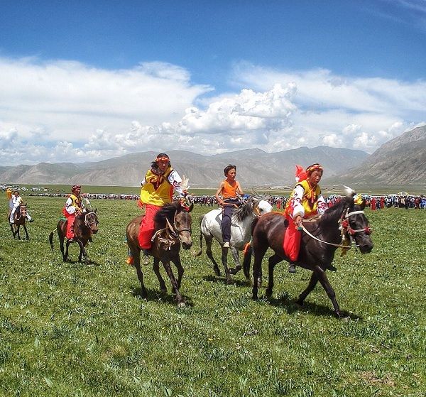
[[[253,222],[255,217],[271,212],[271,210],[272,205],[269,204],[266,197],[256,196],[250,197],[241,207],[234,210],[231,223],[230,248],[236,268],[228,268],[227,266],[228,249],[223,246],[221,209],[209,211],[200,219],[200,251],[195,253],[195,256],[200,256],[202,254],[202,238],[204,237],[206,241],[206,254],[213,263],[214,273],[216,276],[220,276],[219,266],[212,254],[212,241],[213,239],[218,241],[222,247],[222,265],[226,273],[226,283],[231,283],[231,274],[236,274],[242,267],[239,260],[239,251],[242,251],[250,240],[251,222]]]

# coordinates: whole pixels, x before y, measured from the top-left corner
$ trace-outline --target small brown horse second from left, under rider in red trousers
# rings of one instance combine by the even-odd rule
[[[65,251],[64,251],[64,240],[67,235],[67,219],[60,219],[56,230],[58,231],[60,251],[62,253],[62,260],[66,262],[68,260],[68,247],[72,242],[76,242],[80,246],[80,255],[78,256],[78,261],[82,262],[84,256],[84,262],[89,263],[87,259],[87,252],[84,247],[90,241],[92,242],[92,235],[97,234],[99,221],[97,219],[97,208],[95,210],[90,210],[87,212],[82,212],[77,215],[74,219],[74,233],[75,236],[72,240],[67,240]],[[53,233],[55,229],[50,232],[49,242],[50,249],[53,251]]]

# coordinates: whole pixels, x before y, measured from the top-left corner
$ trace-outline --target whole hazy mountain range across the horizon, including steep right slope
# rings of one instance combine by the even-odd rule
[[[0,183],[138,186],[158,153],[132,153],[87,163],[0,166]],[[266,153],[258,148],[203,156],[168,151],[173,168],[192,187],[217,187],[228,164],[243,187],[292,187],[295,164],[324,166],[322,184],[419,185],[426,177],[426,126],[384,143],[370,156],[359,150],[317,146]]]

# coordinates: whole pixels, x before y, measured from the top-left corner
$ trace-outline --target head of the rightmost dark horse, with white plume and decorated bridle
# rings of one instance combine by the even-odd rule
[[[371,227],[368,226],[368,219],[364,214],[366,202],[361,195],[356,195],[354,190],[346,187],[347,202],[346,211],[342,214],[342,228],[349,236],[354,239],[356,246],[362,254],[368,254],[373,249],[373,241],[371,240]]]

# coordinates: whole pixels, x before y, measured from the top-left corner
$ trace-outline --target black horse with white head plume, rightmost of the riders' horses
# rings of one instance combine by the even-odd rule
[[[332,301],[334,312],[337,317],[343,317],[336,294],[325,274],[326,269],[331,266],[334,252],[341,247],[344,250],[351,248],[354,244],[361,254],[367,254],[373,249],[371,241],[371,228],[364,214],[365,201],[361,204],[354,202],[355,192],[348,189],[346,197],[333,207],[329,207],[320,219],[313,222],[303,222],[302,241],[300,242],[300,253],[295,261],[297,266],[312,271],[312,276],[307,288],[299,295],[297,305],[302,306],[307,295],[320,281],[329,299]],[[358,200],[356,200],[358,202]],[[244,273],[249,274],[251,254],[254,255],[253,264],[253,299],[258,298],[258,288],[262,281],[262,259],[268,248],[273,249],[275,254],[268,260],[268,288],[267,298],[271,298],[273,291],[273,269],[280,261],[290,262],[283,250],[283,239],[288,221],[283,214],[270,213],[253,221],[253,237],[249,249],[244,255]],[[346,251],[344,251],[346,252]]]

